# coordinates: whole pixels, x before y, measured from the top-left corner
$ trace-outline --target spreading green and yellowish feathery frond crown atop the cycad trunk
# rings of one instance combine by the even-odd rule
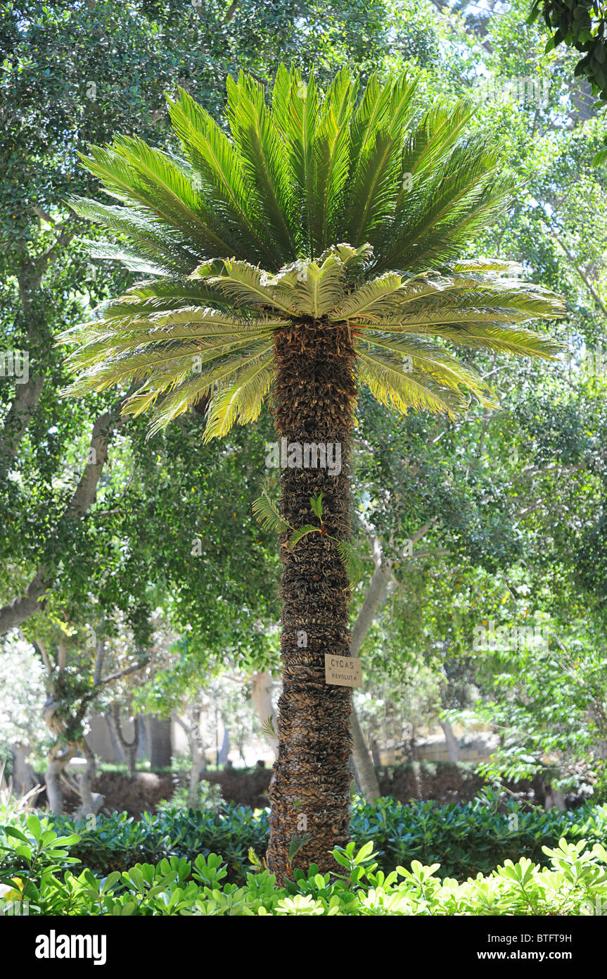
[[[416,79],[347,70],[323,97],[281,68],[271,105],[257,81],[228,81],[228,135],[183,90],[169,111],[183,157],[116,137],[83,161],[119,205],[71,206],[128,245],[92,243],[150,278],[67,331],[70,395],[136,380],[125,410],[151,431],[209,399],[205,438],[259,415],[274,333],[347,325],[360,380],[380,401],[453,414],[495,405],[453,347],[552,356],[521,324],[562,312],[519,266],[460,260],[508,204],[510,179],[469,110],[416,104]]]

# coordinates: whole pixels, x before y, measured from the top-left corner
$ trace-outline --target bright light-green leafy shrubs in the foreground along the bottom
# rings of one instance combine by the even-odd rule
[[[64,871],[65,863],[75,862],[76,834],[59,836],[33,815],[4,832],[4,901],[13,909],[27,901],[29,914],[566,915],[600,913],[607,894],[607,852],[600,843],[590,849],[585,838],[543,846],[549,868],[525,857],[506,859],[490,874],[462,883],[441,881],[438,862],[413,860],[411,870],[397,865],[386,874],[372,840],[360,849],[350,843],[334,851],[342,873],[320,874],[313,864],[307,875],[295,870],[294,881],[277,888],[255,860],[255,872],[241,886],[226,883],[226,864],[216,853],[199,853],[192,862],[178,856],[156,866],[138,862],[104,877],[90,869]]]

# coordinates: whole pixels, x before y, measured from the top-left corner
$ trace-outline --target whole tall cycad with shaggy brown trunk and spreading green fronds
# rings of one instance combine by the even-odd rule
[[[270,397],[286,440],[281,533],[282,697],[268,865],[331,868],[349,837],[351,690],[325,682],[349,655],[349,457],[357,381],[382,403],[453,415],[494,404],[456,350],[557,351],[521,324],[559,301],[518,267],[470,256],[507,207],[510,181],[469,112],[417,104],[415,79],[362,91],[342,70],[323,96],[279,70],[228,81],[227,122],[185,92],[169,100],[181,155],[120,136],[83,158],[120,203],[74,209],[124,236],[94,255],[147,277],[65,334],[72,395],[138,382],[126,402],[152,432],[200,404],[204,439],[259,415]],[[306,465],[305,445],[310,449]],[[341,451],[323,468],[322,447]],[[295,446],[295,448],[293,448]],[[297,446],[300,446],[299,452]],[[321,446],[316,456],[315,446]],[[332,449],[335,451],[335,448]]]

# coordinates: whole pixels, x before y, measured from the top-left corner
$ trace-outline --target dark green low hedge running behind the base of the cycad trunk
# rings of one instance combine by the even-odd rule
[[[97,816],[95,828],[74,827],[67,816],[50,816],[60,834],[76,829],[78,843],[71,857],[96,872],[109,873],[137,862],[157,863],[171,857],[194,862],[202,854],[221,854],[228,879],[243,883],[250,868],[248,851],[263,857],[268,845],[268,813],[226,807],[223,813],[185,811],[145,814],[135,821],[126,814]],[[490,873],[505,860],[526,857],[547,865],[542,847],[555,847],[561,837],[585,839],[591,847],[607,839],[607,805],[585,805],[573,812],[523,811],[516,803],[500,805],[490,798],[437,807],[431,802],[403,805],[381,799],[376,807],[353,807],[352,838],[357,846],[371,841],[379,867],[389,872],[412,861],[440,863],[439,876],[464,880]]]

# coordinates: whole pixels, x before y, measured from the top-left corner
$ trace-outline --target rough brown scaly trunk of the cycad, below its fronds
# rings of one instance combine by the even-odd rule
[[[287,535],[281,538],[282,696],[267,854],[281,883],[294,867],[312,862],[322,871],[336,869],[330,852],[349,840],[352,691],[325,683],[325,653],[350,655],[348,577],[328,535],[350,535],[356,387],[345,327],[317,321],[282,330],[276,358],[277,434],[287,445],[298,444],[302,454],[301,465],[281,470],[282,516],[294,528],[319,526],[310,497],[322,492],[326,531],[303,537],[292,549]],[[332,470],[306,467],[305,443],[338,446],[333,462],[340,459],[340,472],[337,464]],[[290,457],[297,463],[294,451]]]

